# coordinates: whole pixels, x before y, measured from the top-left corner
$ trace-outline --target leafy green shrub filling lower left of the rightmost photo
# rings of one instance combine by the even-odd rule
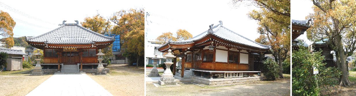
[[[321,52],[311,53],[306,47],[299,48],[292,53],[292,95],[317,96],[320,87],[338,82],[332,77],[339,78],[341,71],[336,68],[326,68]],[[319,74],[313,74],[313,67],[319,70]]]

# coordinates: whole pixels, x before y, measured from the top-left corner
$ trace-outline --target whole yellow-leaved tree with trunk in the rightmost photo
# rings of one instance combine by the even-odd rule
[[[307,30],[311,41],[328,38],[329,46],[335,51],[337,67],[342,71],[340,86],[350,86],[346,58],[356,47],[356,1],[355,0],[312,0],[314,13],[312,26]]]

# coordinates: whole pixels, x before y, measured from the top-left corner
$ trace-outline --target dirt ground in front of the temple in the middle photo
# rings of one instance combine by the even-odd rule
[[[276,81],[257,81],[250,84],[240,84],[221,87],[200,87],[190,83],[181,86],[155,87],[152,82],[146,84],[147,96],[289,96],[290,75]]]

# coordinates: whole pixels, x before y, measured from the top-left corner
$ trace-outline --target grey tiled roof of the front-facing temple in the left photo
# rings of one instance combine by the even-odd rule
[[[104,36],[75,23],[64,24],[40,36],[26,38],[29,42],[45,44],[93,44],[114,40],[114,37]]]

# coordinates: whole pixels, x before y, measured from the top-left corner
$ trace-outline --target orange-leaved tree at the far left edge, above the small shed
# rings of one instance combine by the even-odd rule
[[[14,33],[12,32],[16,22],[12,17],[2,10],[0,10],[0,35],[5,38],[0,42],[7,48],[14,46]]]

